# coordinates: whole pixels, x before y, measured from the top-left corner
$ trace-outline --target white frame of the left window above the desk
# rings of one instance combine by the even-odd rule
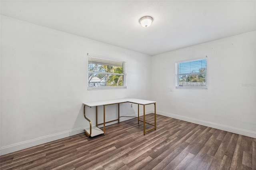
[[[111,72],[101,72],[101,71],[89,71],[89,59],[98,59],[103,61],[102,64],[110,64],[111,66],[116,66],[114,63],[122,63],[122,73],[111,73]],[[112,63],[112,64],[111,64]],[[94,55],[87,53],[87,89],[88,90],[103,90],[103,89],[127,89],[127,80],[126,80],[126,61],[118,61],[116,59],[109,59],[103,56]],[[102,75],[122,75],[122,86],[89,86],[89,74],[102,74]]]

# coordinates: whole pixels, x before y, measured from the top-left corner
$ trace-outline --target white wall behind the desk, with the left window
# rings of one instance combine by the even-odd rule
[[[87,53],[127,61],[127,89],[88,91]],[[1,154],[83,132],[82,102],[150,99],[150,66],[148,55],[1,16]],[[115,113],[108,106],[106,119]]]

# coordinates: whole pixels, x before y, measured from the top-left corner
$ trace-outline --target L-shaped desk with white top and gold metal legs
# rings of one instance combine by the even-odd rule
[[[84,132],[86,133],[87,136],[97,136],[99,134],[105,134],[105,124],[106,123],[110,123],[110,122],[114,122],[114,121],[118,121],[118,123],[120,122],[120,103],[134,103],[134,104],[138,104],[138,124],[141,121],[139,119],[139,115],[140,115],[140,105],[143,105],[143,132],[144,134],[146,134],[146,132],[149,132],[151,130],[156,130],[156,102],[155,101],[148,101],[148,100],[141,100],[141,99],[114,99],[114,100],[106,100],[106,101],[95,101],[95,102],[86,102],[83,103],[84,104],[84,118],[90,123],[90,128],[84,129]],[[106,105],[115,105],[118,104],[118,119],[112,120],[112,121],[108,121],[105,122],[105,106]],[[154,124],[152,123],[147,123],[145,121],[145,106],[146,105],[151,105],[154,104]],[[96,127],[92,127],[92,122],[90,121],[90,119],[88,119],[86,117],[86,106],[88,107],[96,107]],[[103,106],[103,123],[98,124],[98,106]],[[129,117],[129,116],[121,116],[121,117]],[[137,117],[136,117],[137,118]],[[146,130],[146,124],[152,125],[154,127],[149,128],[148,130]],[[103,131],[98,128],[99,125],[103,125]]]

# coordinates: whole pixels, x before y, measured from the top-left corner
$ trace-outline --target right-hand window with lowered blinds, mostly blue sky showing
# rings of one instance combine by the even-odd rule
[[[176,88],[207,89],[207,59],[176,63]]]

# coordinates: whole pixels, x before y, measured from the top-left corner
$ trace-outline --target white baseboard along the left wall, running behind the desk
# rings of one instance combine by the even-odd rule
[[[152,113],[152,110],[145,111],[145,114],[149,114],[149,113]],[[143,115],[143,112],[140,112],[140,116],[141,115]],[[137,114],[134,113],[134,114],[127,115],[127,116],[137,116]],[[126,121],[128,119],[132,119],[132,118],[131,117],[121,117],[120,122]],[[106,120],[106,121],[111,121],[111,120]],[[117,123],[117,121],[108,123],[107,125],[112,125],[114,123]],[[94,124],[94,125],[92,125],[92,127],[93,126],[96,126],[96,125]],[[8,154],[8,153],[15,152],[15,151],[18,151],[18,150],[22,150],[22,149],[25,149],[25,148],[29,148],[29,147],[32,147],[32,146],[36,146],[36,145],[39,145],[39,144],[44,144],[46,142],[51,142],[51,141],[58,140],[58,139],[61,139],[61,138],[65,138],[65,137],[68,137],[68,136],[72,136],[72,135],[75,135],[75,134],[83,133],[85,128],[89,128],[89,126],[88,127],[76,128],[76,129],[72,129],[72,130],[68,130],[68,131],[65,131],[65,132],[60,132],[60,133],[52,134],[52,135],[48,135],[48,136],[43,136],[41,138],[36,138],[36,139],[33,139],[33,140],[27,140],[27,141],[12,144],[12,145],[9,145],[9,146],[4,146],[4,147],[0,148],[0,155]]]

